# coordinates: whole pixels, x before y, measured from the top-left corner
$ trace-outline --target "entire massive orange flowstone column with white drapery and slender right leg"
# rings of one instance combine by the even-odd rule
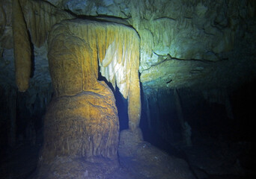
[[[55,98],[45,117],[43,163],[56,157],[117,161],[119,124],[106,78],[129,98],[130,129],[138,129],[138,34],[125,25],[83,19],[62,21],[49,34],[49,68]]]

